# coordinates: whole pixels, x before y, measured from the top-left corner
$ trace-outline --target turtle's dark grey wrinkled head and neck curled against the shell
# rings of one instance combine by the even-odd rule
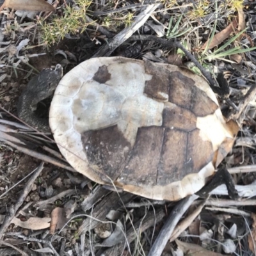
[[[50,97],[63,75],[61,65],[46,68],[33,77],[23,90],[17,104],[17,113],[21,120],[40,132],[51,132],[48,118],[40,118],[35,114],[38,102]]]

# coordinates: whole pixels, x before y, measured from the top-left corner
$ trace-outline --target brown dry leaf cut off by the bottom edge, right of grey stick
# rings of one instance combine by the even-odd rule
[[[206,250],[202,248],[198,244],[191,244],[191,243],[185,243],[179,240],[175,240],[177,243],[177,246],[184,252],[186,255],[193,255],[193,256],[223,256],[221,253],[211,252],[209,250]]]

